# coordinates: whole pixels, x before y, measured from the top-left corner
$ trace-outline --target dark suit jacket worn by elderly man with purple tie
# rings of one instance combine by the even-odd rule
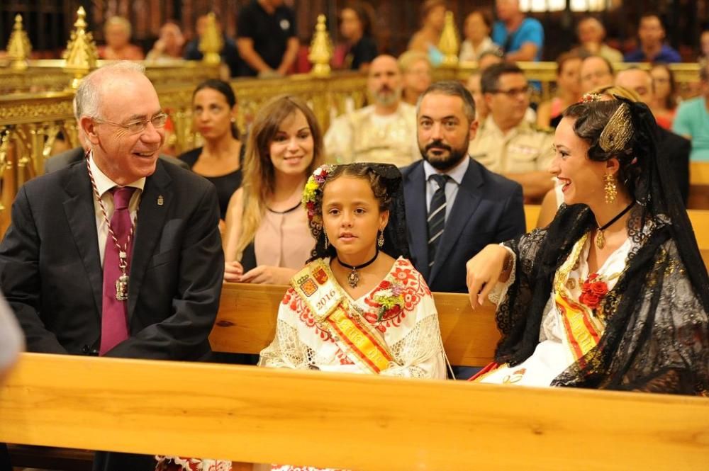
[[[162,196],[162,205],[158,203]],[[189,360],[210,351],[224,256],[214,186],[157,161],[135,229],[130,338],[107,356]],[[79,162],[28,181],[0,243],[0,288],[29,351],[95,354],[103,271],[91,183]]]

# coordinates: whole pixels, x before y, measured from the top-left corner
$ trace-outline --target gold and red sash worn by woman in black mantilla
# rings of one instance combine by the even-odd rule
[[[605,324],[593,314],[591,307],[574,301],[567,288],[569,273],[578,266],[587,239],[588,234],[584,234],[584,237],[576,242],[569,258],[559,267],[554,279],[554,303],[564,324],[564,343],[569,347],[575,361],[581,361],[586,353],[598,345],[605,328]]]

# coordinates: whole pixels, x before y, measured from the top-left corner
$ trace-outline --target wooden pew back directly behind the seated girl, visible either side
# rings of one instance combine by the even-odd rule
[[[209,341],[214,351],[259,353],[274,338],[287,287],[225,283]],[[500,334],[492,305],[476,310],[467,295],[433,293],[443,346],[454,365],[481,366],[493,359]]]

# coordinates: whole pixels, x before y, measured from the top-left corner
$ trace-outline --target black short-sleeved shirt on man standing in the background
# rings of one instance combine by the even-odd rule
[[[287,6],[279,6],[273,14],[267,13],[257,0],[239,12],[237,38],[250,38],[254,50],[272,69],[278,69],[286,53],[289,38],[296,36],[296,17]],[[255,76],[257,72],[243,61],[241,75]]]

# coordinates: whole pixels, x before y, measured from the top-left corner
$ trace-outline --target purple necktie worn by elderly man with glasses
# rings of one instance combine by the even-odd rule
[[[128,203],[135,188],[125,186],[123,188],[112,188],[113,194],[113,216],[111,216],[111,229],[118,239],[121,249],[125,246],[130,234],[130,227],[133,222],[130,220]],[[125,267],[125,274],[130,273],[130,249],[133,240],[130,240],[128,247],[125,247],[128,266]],[[116,280],[123,274],[118,264],[118,248],[113,242],[111,232],[106,237],[106,251],[104,252],[104,301],[103,312],[101,313],[101,348],[99,355],[104,355],[114,346],[128,339],[128,301],[116,299]]]

